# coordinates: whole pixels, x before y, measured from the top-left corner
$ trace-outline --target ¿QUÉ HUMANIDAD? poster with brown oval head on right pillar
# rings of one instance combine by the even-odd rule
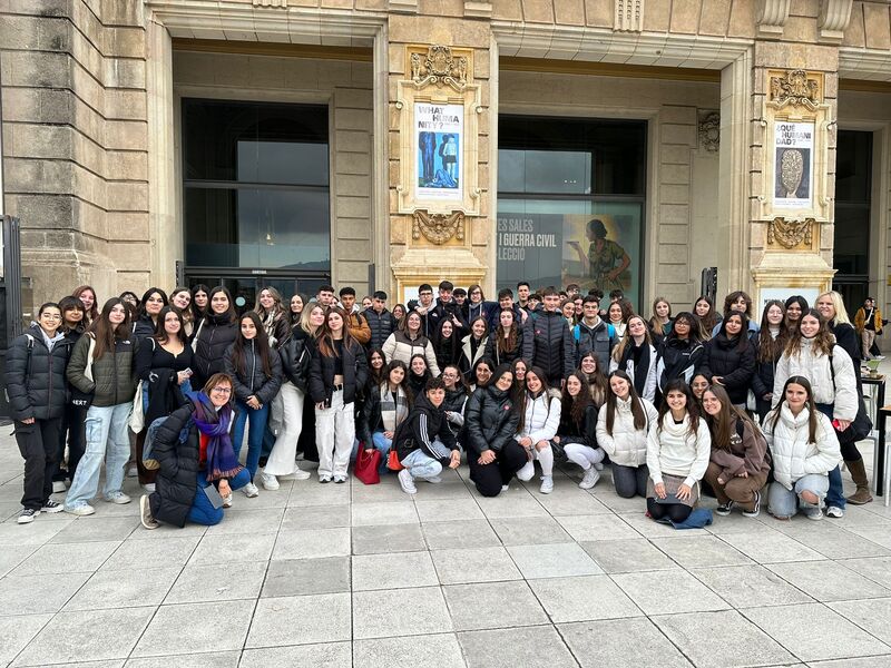
[[[777,121],[774,153],[774,206],[810,209],[813,199],[814,124]]]

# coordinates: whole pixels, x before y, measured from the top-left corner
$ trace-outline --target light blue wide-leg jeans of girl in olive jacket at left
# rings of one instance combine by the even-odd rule
[[[77,465],[71,488],[65,498],[68,509],[86,505],[99,489],[99,472],[105,460],[105,488],[102,497],[109,499],[120,492],[124,484],[124,466],[130,459],[130,439],[127,420],[133,403],[115,406],[90,406],[84,423],[86,449]]]

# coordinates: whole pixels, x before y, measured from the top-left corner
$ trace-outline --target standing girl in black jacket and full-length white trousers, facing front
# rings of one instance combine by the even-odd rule
[[[342,308],[330,308],[310,365],[319,482],[346,482],[355,438],[353,402],[366,376],[365,353],[346,330],[346,314]]]

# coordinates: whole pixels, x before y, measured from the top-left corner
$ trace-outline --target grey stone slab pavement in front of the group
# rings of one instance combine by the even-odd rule
[[[608,470],[483,499],[462,466],[415,498],[394,475],[236,493],[209,529],[146,531],[136,502],[102,501],[18,525],[3,432],[0,666],[891,666],[880,500],[675,531]]]

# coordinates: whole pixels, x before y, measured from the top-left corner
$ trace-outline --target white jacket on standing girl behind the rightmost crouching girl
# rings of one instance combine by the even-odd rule
[[[835,382],[832,382],[832,370],[828,355],[816,354],[813,340],[801,340],[801,352],[797,355],[783,353],[776,363],[773,376],[773,405],[784,399],[783,386],[793,375],[803,375],[811,381],[814,402],[832,404],[832,416],[838,420],[856,418],[856,376],[854,364],[848,352],[838,345],[832,346],[832,369],[835,370]]]

